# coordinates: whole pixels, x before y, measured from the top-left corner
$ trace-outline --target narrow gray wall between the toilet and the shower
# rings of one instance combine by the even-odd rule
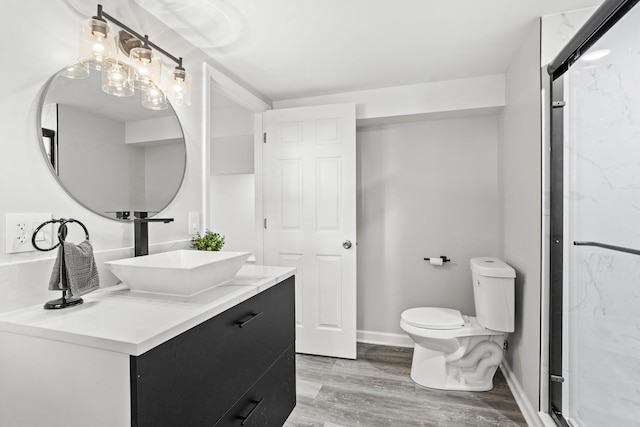
[[[530,405],[539,407],[541,286],[540,23],[506,74],[499,117],[502,258],[516,270],[516,325],[505,361]]]

